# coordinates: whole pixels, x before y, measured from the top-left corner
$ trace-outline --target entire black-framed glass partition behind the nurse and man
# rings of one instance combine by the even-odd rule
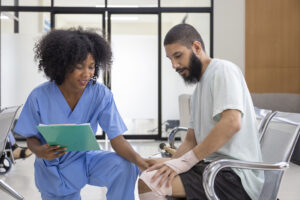
[[[157,0],[53,0],[54,8],[50,7],[51,0],[1,2],[2,6],[14,6],[18,2],[16,7],[6,8],[11,12],[1,12],[2,107],[24,103],[32,88],[46,81],[33,60],[33,48],[42,34],[51,30],[50,13],[54,11],[51,19],[55,28],[81,26],[100,35],[105,33],[110,40],[114,63],[111,73],[99,77],[105,78],[115,95],[116,104],[129,128],[128,138],[159,138],[159,130],[164,137],[171,128],[180,125],[178,97],[191,94],[194,86],[187,87],[174,72],[171,62],[165,57],[163,45],[158,42],[163,42],[172,26],[185,22],[200,32],[209,54],[212,48],[210,40],[213,39],[210,38],[213,25],[210,21],[213,14],[211,0],[160,0],[162,9],[157,7]],[[108,8],[105,8],[105,2]],[[18,5],[28,6],[26,12],[22,11],[23,8],[15,12]],[[41,9],[41,6],[47,7]],[[80,11],[78,7],[81,7]],[[101,9],[92,9],[95,7]],[[112,9],[114,7],[118,9]],[[186,13],[182,12],[183,9]],[[98,81],[103,82],[102,78]]]

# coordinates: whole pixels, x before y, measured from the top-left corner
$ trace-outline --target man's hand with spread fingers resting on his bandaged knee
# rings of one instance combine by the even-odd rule
[[[155,182],[156,179],[161,177],[158,183],[158,187],[161,187],[166,180],[167,180],[167,187],[171,186],[172,181],[174,180],[175,176],[177,176],[177,173],[172,168],[165,165],[164,163],[157,163],[152,167],[150,167],[149,169],[147,169],[147,171],[153,171],[153,170],[157,170],[157,172],[152,177],[151,179],[152,182]]]

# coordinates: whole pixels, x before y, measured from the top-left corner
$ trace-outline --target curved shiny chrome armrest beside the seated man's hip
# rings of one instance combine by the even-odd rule
[[[287,162],[269,164],[262,162],[248,162],[229,159],[213,161],[212,163],[206,166],[203,172],[202,184],[205,190],[205,194],[209,200],[219,200],[215,193],[214,183],[218,172],[225,167],[240,169],[285,170],[289,167],[289,164]]]

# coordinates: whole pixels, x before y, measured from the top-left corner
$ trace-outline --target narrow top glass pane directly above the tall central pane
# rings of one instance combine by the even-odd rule
[[[157,0],[127,0],[127,1],[120,1],[120,0],[108,0],[107,1],[108,7],[131,7],[131,8],[138,8],[138,7],[157,7]]]

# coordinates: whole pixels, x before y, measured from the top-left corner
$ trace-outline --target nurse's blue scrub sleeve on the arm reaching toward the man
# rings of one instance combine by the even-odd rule
[[[103,110],[99,113],[98,123],[111,140],[127,131],[127,127],[118,112],[113,95],[109,93]]]

